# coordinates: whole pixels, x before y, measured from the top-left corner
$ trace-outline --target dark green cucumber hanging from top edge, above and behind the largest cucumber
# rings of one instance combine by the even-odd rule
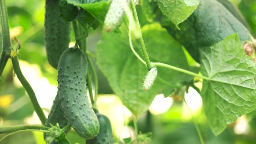
[[[69,48],[70,22],[62,20],[59,0],[46,0],[45,5],[45,45],[49,64],[57,69],[59,58]]]

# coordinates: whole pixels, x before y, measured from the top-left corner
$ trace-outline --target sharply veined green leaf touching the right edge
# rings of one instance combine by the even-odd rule
[[[204,111],[215,135],[227,124],[256,110],[256,63],[242,49],[237,34],[200,49]]]

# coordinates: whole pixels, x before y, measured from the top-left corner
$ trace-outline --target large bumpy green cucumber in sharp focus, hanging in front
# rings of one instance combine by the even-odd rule
[[[78,48],[66,49],[59,59],[58,88],[66,118],[79,136],[92,139],[99,122],[86,95],[87,59]]]

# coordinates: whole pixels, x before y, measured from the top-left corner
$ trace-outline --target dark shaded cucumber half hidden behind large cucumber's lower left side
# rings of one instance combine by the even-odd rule
[[[57,92],[57,95],[53,101],[53,106],[44,126],[50,127],[50,124],[56,125],[56,123],[59,124],[59,128],[64,128],[69,124],[69,121],[66,119],[64,111],[62,110],[59,100],[59,92]],[[46,139],[46,133],[44,133],[44,139]]]

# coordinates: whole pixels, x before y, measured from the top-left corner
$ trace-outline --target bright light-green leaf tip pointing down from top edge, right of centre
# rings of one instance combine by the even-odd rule
[[[157,0],[161,11],[176,26],[186,20],[197,8],[200,0]]]

